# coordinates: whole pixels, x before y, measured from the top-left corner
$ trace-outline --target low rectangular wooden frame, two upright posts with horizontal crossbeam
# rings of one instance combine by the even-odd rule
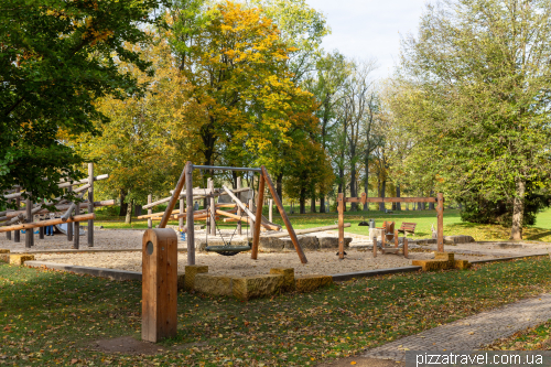
[[[439,193],[436,197],[367,197],[363,193],[360,197],[345,197],[343,193],[337,196],[338,212],[338,258],[344,259],[344,206],[345,203],[436,203],[436,244],[439,252],[444,252],[444,194]],[[374,245],[376,246],[376,245]],[[374,249],[375,253],[375,249]]]

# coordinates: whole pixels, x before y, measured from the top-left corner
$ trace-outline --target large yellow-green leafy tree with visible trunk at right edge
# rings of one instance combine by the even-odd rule
[[[441,1],[403,42],[395,107],[419,158],[453,197],[511,202],[512,239],[527,182],[549,181],[549,0]]]

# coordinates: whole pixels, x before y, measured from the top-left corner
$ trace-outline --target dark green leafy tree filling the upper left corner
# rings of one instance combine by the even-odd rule
[[[98,133],[93,121],[107,118],[94,100],[139,89],[116,61],[148,68],[122,45],[148,41],[143,24],[156,22],[151,11],[161,2],[0,1],[0,192],[19,185],[60,196],[60,180],[82,177],[83,156],[57,132]]]

